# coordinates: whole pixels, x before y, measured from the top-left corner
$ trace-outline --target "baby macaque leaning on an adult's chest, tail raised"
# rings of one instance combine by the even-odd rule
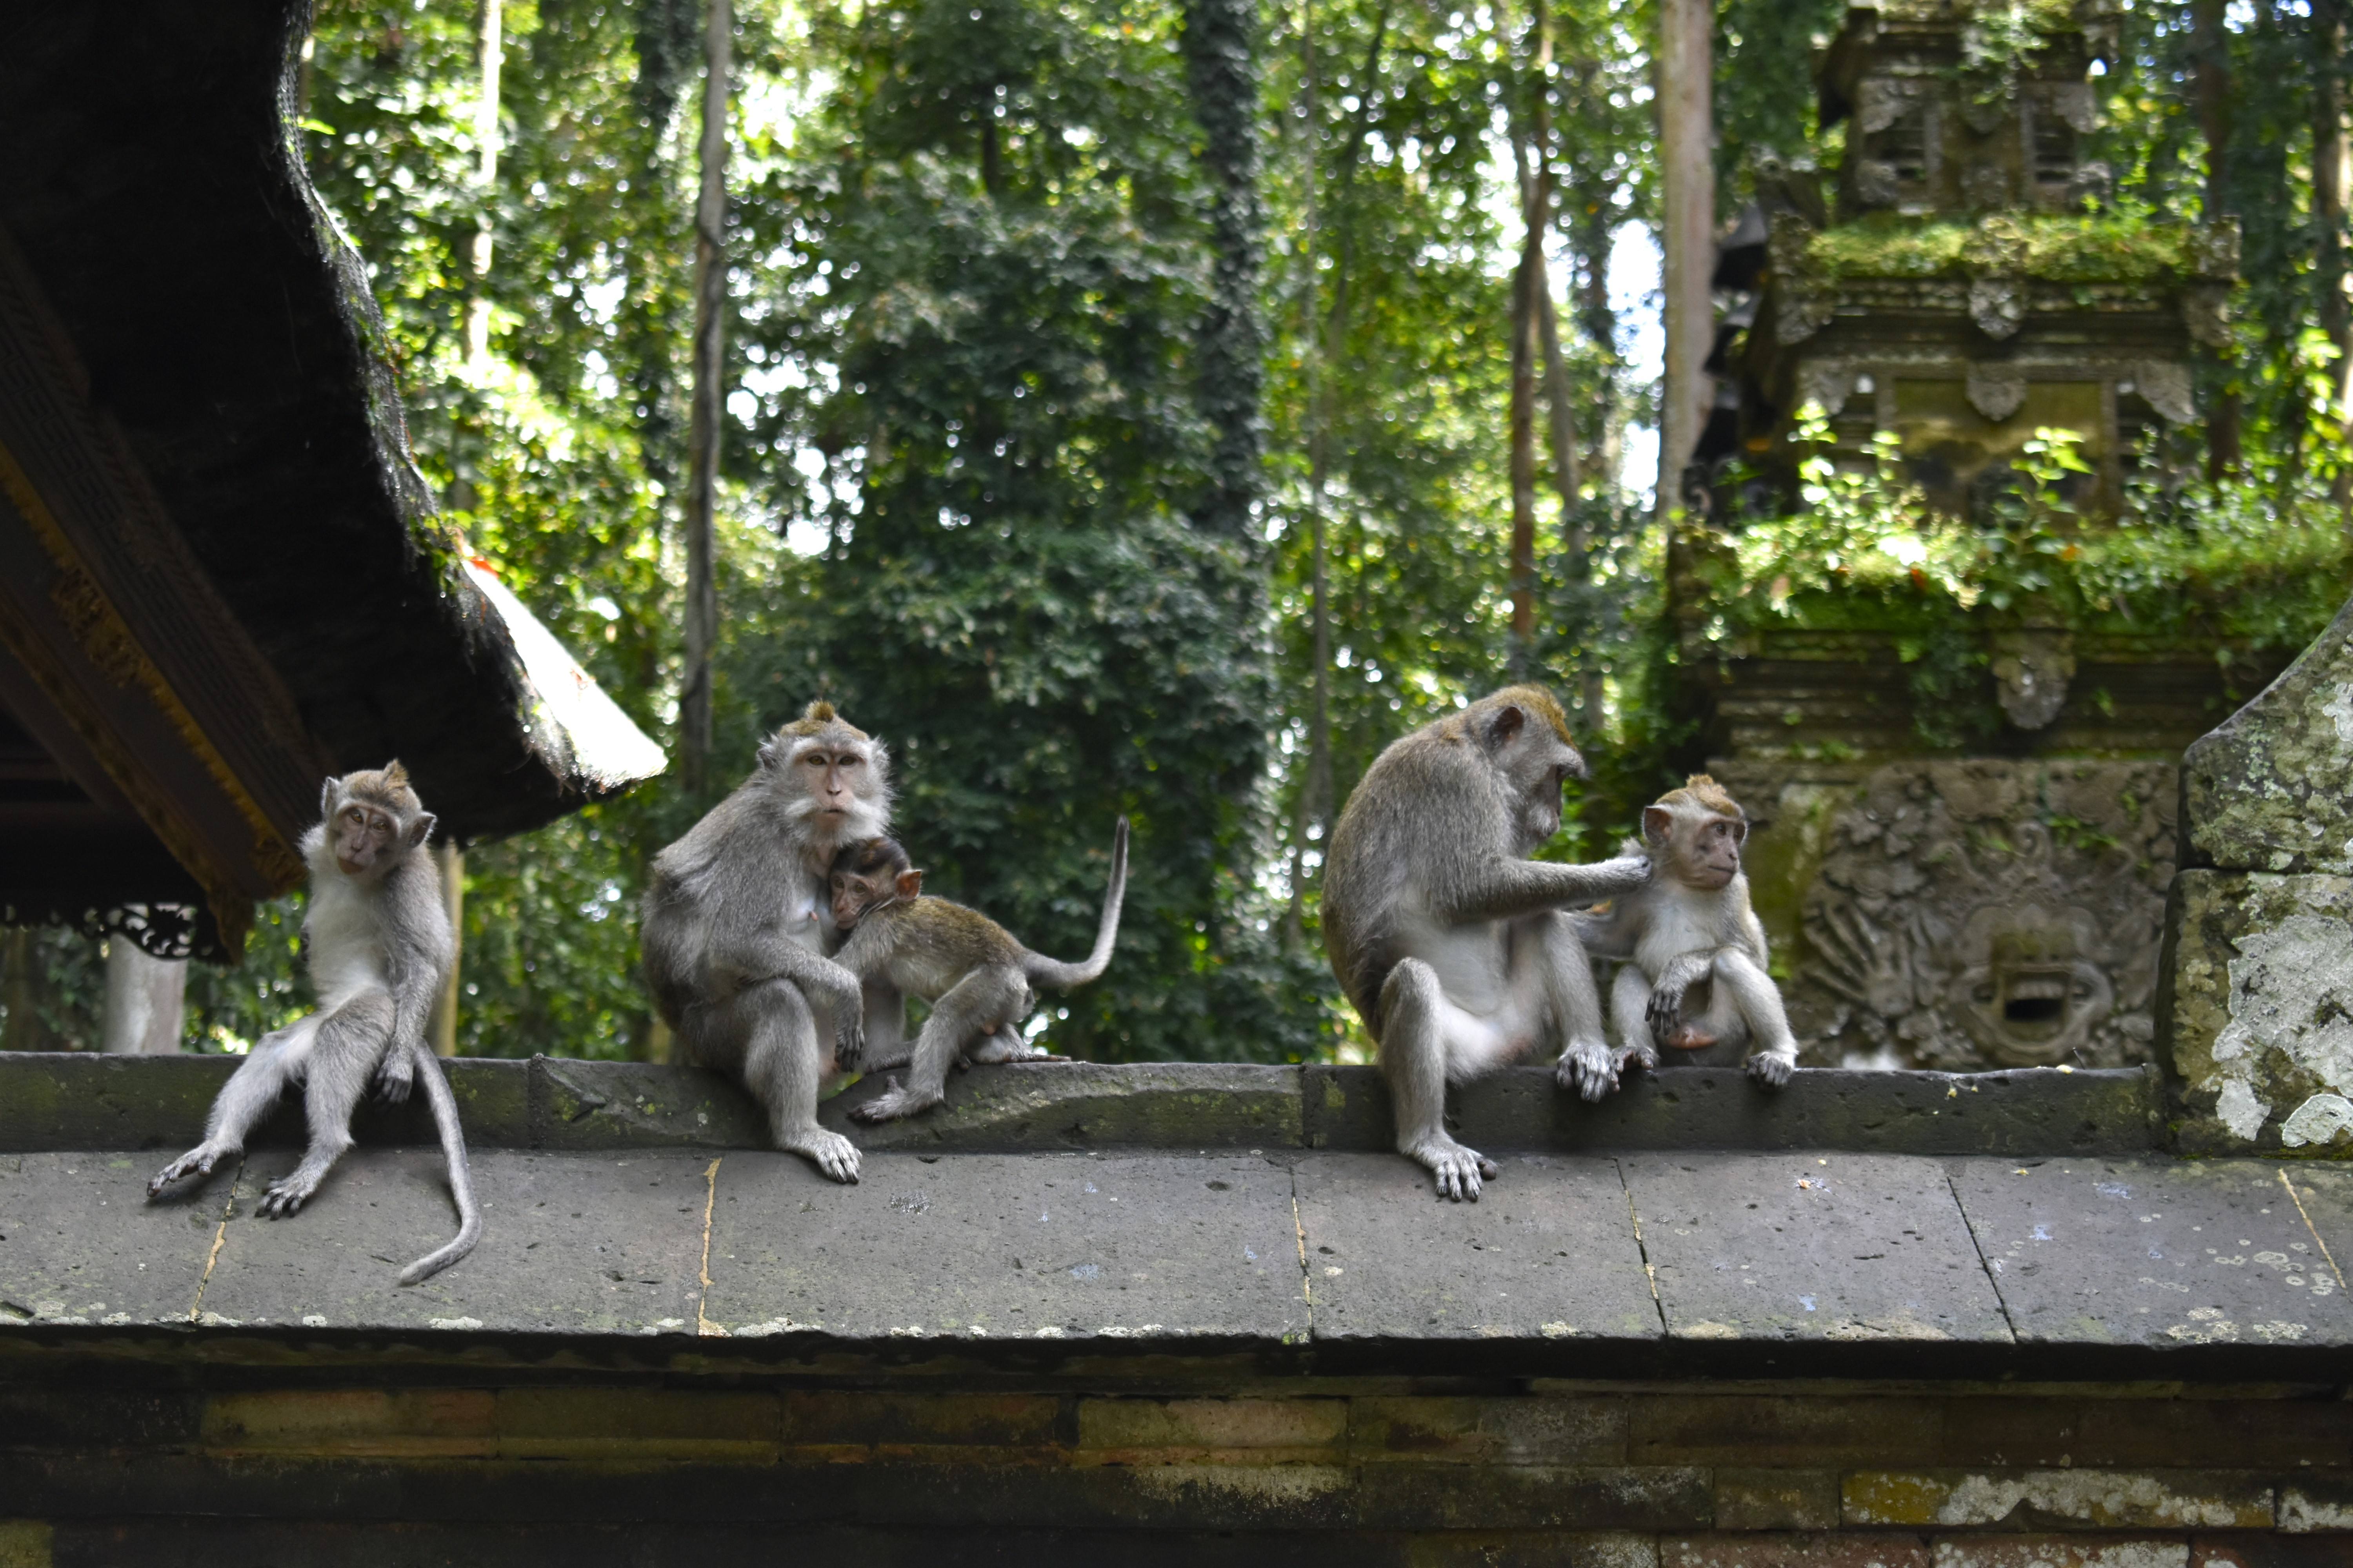
[[[1111,966],[1120,936],[1120,900],[1127,896],[1127,820],[1111,837],[1111,891],[1094,931],[1094,952],[1082,964],[1064,964],[1031,952],[1005,926],[979,910],[922,896],[922,872],[896,839],[847,844],[833,858],[833,924],[849,933],[833,961],[873,985],[882,980],[906,997],[922,997],[932,1016],[922,1020],[908,1058],[906,1086],[849,1114],[859,1121],[892,1121],[939,1105],[948,1093],[948,1070],[967,1063],[1035,1060],[1019,1044],[1021,1020],[1038,1006],[1031,985],[1071,990]],[[871,1060],[868,1067],[892,1063]]]

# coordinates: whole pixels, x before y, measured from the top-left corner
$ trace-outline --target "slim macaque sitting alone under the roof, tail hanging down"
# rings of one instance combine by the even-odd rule
[[[449,1161],[459,1232],[445,1248],[400,1272],[400,1284],[447,1269],[482,1237],[466,1168],[466,1133],[456,1098],[426,1046],[426,1016],[456,961],[440,872],[424,853],[433,813],[398,762],[384,771],[329,778],[318,827],[301,837],[311,863],[311,910],[301,936],[318,990],[318,1011],[266,1034],[221,1086],[195,1145],[148,1182],[148,1197],[184,1175],[209,1175],[224,1157],[245,1152],[254,1124],[287,1084],[304,1086],[311,1147],[292,1173],[261,1194],[261,1213],[299,1211],[351,1147],[351,1114],[374,1084],[386,1100],[407,1100],[424,1081]]]

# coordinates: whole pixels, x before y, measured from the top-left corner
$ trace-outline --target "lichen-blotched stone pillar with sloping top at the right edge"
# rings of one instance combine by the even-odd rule
[[[2188,748],[2160,1046],[2188,1152],[2353,1157],[2353,604]]]

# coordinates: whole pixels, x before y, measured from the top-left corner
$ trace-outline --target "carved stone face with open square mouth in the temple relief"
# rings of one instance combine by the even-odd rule
[[[2089,910],[1977,910],[1955,943],[1969,961],[1953,976],[1946,1013],[2002,1067],[2089,1063],[2085,1046],[2115,1009],[2115,985],[2089,961]]]

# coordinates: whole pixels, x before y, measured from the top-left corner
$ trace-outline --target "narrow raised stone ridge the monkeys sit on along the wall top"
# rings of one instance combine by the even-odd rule
[[[0,1053],[0,1150],[181,1150],[235,1070],[226,1056]],[[449,1084],[478,1147],[767,1147],[758,1107],[718,1074],[645,1063],[459,1058]],[[974,1067],[948,1103],[866,1126],[854,1084],[821,1121],[868,1150],[929,1154],[1045,1150],[1388,1150],[1388,1088],[1374,1067],[1231,1063],[1031,1063]],[[1840,1072],[1781,1093],[1737,1070],[1635,1074],[1600,1105],[1520,1067],[1449,1093],[1449,1124],[1482,1150],[1854,1150],[1880,1154],[2122,1154],[2160,1145],[2151,1070]],[[360,1145],[433,1143],[421,1095],[367,1105]],[[299,1147],[289,1100],[254,1147]]]

